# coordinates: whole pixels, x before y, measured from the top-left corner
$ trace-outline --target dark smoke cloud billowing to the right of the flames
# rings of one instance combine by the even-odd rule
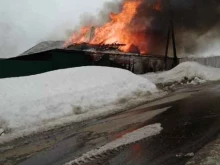
[[[158,1],[162,4],[160,12],[152,7]],[[149,19],[150,18],[150,19]],[[202,53],[201,50],[213,48],[212,41],[220,41],[220,1],[219,0],[144,0],[134,18],[135,24],[143,26],[143,20],[150,20],[147,27],[151,40],[150,52],[165,48],[169,20],[173,18],[179,54]],[[218,40],[219,39],[219,40]],[[215,44],[216,45],[216,44]],[[215,46],[216,51],[220,50]],[[205,50],[204,50],[205,51]],[[216,52],[219,53],[220,52]]]

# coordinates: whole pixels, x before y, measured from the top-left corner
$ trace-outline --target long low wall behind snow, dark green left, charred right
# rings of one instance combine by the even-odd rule
[[[100,59],[88,52],[75,50],[50,50],[32,55],[0,60],[0,78],[28,76],[57,69],[80,66],[109,66],[130,70],[136,74],[169,70],[173,59],[164,57],[101,54]]]

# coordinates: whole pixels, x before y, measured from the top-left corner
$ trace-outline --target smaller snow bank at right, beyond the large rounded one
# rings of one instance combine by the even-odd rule
[[[142,75],[156,84],[181,82],[184,79],[200,82],[220,80],[220,69],[207,67],[196,62],[184,62],[170,71]]]

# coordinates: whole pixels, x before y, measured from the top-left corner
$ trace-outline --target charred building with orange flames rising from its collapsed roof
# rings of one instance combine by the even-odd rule
[[[135,68],[138,69],[134,70],[135,73],[171,69],[178,64],[171,12],[170,18],[166,19],[166,32],[150,27],[153,18],[148,14],[152,12],[159,15],[163,10],[161,0],[147,3],[145,0],[124,0],[120,12],[110,13],[107,23],[96,27],[93,24],[82,27],[66,41],[65,48],[86,51],[94,58],[109,55],[111,60],[123,66],[136,64]],[[163,43],[160,43],[161,38],[157,39],[161,34]],[[173,60],[168,58],[170,35],[173,41]],[[155,47],[159,50],[156,53],[153,50]]]

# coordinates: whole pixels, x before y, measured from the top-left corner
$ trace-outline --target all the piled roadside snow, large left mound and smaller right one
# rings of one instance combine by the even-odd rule
[[[193,83],[220,80],[220,69],[185,62],[170,71],[137,76],[91,66],[0,79],[0,142],[133,108],[160,97],[154,84],[186,79]]]

